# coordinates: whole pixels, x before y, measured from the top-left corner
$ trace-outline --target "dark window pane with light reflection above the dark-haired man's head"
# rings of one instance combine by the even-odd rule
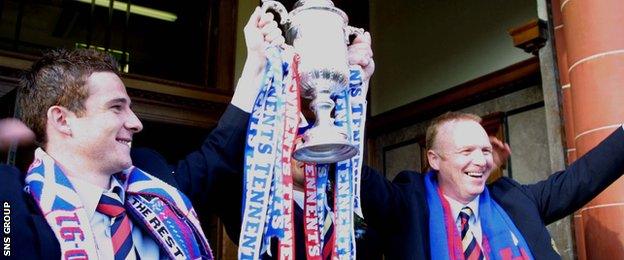
[[[39,55],[42,49],[97,47],[111,50],[129,73],[212,86],[208,61],[216,54],[217,30],[210,27],[217,26],[218,3],[3,1],[0,48]]]

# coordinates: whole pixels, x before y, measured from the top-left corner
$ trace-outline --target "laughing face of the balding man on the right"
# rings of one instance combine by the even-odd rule
[[[467,204],[476,198],[492,172],[492,145],[483,127],[475,121],[456,120],[439,128],[428,153],[445,195]]]

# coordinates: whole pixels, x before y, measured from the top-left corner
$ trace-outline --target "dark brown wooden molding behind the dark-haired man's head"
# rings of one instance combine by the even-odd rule
[[[0,81],[9,88],[39,57],[0,51]],[[228,90],[120,73],[133,109],[144,120],[212,128],[230,102]],[[4,91],[4,90],[3,90]],[[6,91],[10,91],[7,89]]]

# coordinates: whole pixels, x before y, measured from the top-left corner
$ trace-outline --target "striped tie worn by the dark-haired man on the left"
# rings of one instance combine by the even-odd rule
[[[115,260],[126,259],[133,251],[134,245],[132,244],[130,218],[126,214],[121,199],[115,193],[104,193],[96,210],[112,220],[110,228]]]

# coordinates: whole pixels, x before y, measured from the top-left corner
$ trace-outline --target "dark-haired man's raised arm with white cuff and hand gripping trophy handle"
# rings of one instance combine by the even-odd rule
[[[257,8],[245,26],[247,60],[231,103],[199,150],[178,162],[174,177],[198,208],[208,208],[238,241],[243,190],[242,172],[249,113],[261,86],[269,44],[284,38],[270,13]]]

